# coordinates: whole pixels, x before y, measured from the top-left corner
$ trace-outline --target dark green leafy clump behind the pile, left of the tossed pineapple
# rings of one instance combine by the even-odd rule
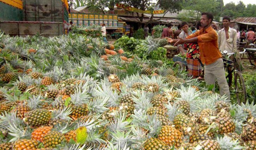
[[[114,46],[115,48],[122,48],[124,51],[132,52],[140,43],[140,40],[136,40],[133,37],[129,38],[125,35],[115,41]]]

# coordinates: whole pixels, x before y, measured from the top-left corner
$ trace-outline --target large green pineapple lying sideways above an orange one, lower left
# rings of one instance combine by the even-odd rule
[[[46,125],[51,119],[51,113],[46,109],[35,109],[25,114],[24,120],[30,126]]]

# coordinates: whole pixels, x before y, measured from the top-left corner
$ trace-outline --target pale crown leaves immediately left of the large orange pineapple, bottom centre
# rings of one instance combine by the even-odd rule
[[[150,116],[145,110],[139,109],[138,111],[134,110],[131,117],[133,125],[149,130],[149,135],[152,137],[156,136],[161,130],[162,122],[158,119],[156,113]]]

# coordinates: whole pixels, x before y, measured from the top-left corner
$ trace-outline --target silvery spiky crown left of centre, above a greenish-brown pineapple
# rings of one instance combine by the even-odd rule
[[[91,96],[87,93],[87,89],[81,90],[76,88],[75,94],[70,95],[71,101],[75,105],[87,104]]]

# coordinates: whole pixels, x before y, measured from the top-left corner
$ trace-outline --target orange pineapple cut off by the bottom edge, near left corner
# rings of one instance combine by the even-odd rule
[[[21,139],[13,143],[13,150],[34,150],[37,147],[37,141],[31,139]]]

